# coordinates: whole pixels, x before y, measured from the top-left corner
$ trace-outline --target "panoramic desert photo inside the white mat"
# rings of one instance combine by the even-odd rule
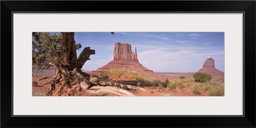
[[[33,32],[33,96],[225,95],[224,32]]]

